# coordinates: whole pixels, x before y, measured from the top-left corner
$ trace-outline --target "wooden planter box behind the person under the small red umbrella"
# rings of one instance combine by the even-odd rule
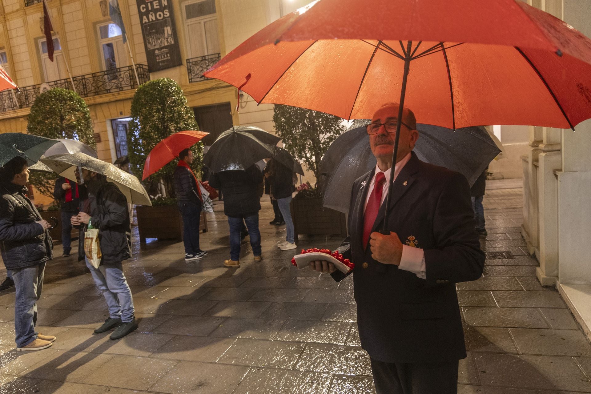
[[[146,238],[183,240],[183,219],[176,205],[168,207],[135,207],[138,220],[139,240]],[[199,230],[207,232],[207,217],[201,212]]]

